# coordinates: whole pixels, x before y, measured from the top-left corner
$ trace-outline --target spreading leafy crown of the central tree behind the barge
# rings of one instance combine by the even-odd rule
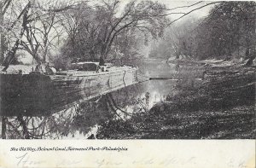
[[[73,11],[72,20],[76,25],[73,26],[73,31],[68,31],[73,33],[69,33],[64,51],[71,52],[67,49],[73,48],[75,51],[71,53],[77,53],[76,56],[79,57],[108,59],[110,53],[117,49],[115,42],[124,36],[124,33],[137,31],[145,37],[148,34],[154,38],[162,36],[167,23],[166,17],[163,16],[166,12],[163,4],[131,1],[126,4],[123,13],[119,14],[118,9],[119,1],[114,0],[102,1],[93,8],[87,7],[90,14],[82,9],[79,14],[78,10]],[[79,20],[80,18],[83,20]]]

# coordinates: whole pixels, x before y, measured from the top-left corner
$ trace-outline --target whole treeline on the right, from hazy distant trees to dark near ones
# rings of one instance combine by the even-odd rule
[[[207,17],[182,20],[167,28],[164,39],[154,44],[150,57],[197,59],[254,59],[256,3],[216,4]]]

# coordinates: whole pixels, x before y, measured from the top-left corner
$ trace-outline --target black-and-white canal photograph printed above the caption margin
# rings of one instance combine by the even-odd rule
[[[255,1],[1,0],[0,137],[255,139]]]

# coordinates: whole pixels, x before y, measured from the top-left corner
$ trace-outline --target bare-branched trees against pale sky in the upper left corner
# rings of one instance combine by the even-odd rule
[[[12,8],[9,8],[11,3]],[[27,5],[22,8],[24,3]],[[9,16],[8,19],[3,20],[4,27],[1,26],[1,35],[3,35],[4,28],[4,32],[7,34],[5,36],[9,38],[9,46],[13,46],[9,47],[11,49],[7,49],[8,52],[3,61],[5,67],[3,71],[16,59],[15,55],[19,49],[24,49],[38,62],[46,61],[46,55],[54,46],[55,39],[61,35],[60,18],[57,17],[57,14],[73,8],[75,2],[72,1],[72,4],[49,0],[46,5],[44,3],[35,0],[6,0],[5,3],[1,3],[1,7],[3,7],[1,16],[7,11]],[[17,14],[17,11],[20,13]],[[1,43],[1,51],[3,51],[3,43]]]

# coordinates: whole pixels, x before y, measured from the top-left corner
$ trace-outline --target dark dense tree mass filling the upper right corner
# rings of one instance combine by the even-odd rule
[[[255,55],[255,2],[224,2],[216,5],[197,28],[196,54],[200,58],[244,59]]]

